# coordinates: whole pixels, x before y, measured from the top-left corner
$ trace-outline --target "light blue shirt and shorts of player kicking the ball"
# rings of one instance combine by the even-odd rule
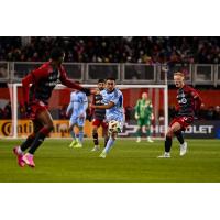
[[[106,110],[107,121],[119,121],[124,122],[124,111],[123,111],[123,94],[116,88],[112,92],[109,92],[107,89],[102,90],[102,103],[108,105],[113,102],[114,106],[111,109]]]

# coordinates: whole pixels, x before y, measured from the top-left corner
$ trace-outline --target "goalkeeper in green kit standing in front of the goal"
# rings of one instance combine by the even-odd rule
[[[141,142],[141,134],[143,128],[145,128],[147,141],[153,142],[153,140],[151,139],[151,120],[154,119],[154,114],[153,105],[151,99],[148,99],[147,92],[143,92],[142,99],[139,99],[136,101],[135,119],[138,120],[136,142]]]

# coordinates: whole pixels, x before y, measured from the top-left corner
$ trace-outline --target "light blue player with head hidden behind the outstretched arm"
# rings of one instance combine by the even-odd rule
[[[75,81],[79,85],[79,81]],[[69,132],[74,139],[69,147],[81,147],[84,139],[84,125],[86,121],[86,110],[88,108],[88,99],[85,92],[75,90],[70,94],[70,102],[66,110],[66,114],[69,116],[72,110],[72,117],[69,120]],[[79,133],[76,135],[74,128],[77,127]]]

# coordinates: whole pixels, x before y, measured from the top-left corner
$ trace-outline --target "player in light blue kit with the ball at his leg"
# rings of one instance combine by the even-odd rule
[[[100,91],[102,96],[103,106],[97,106],[91,103],[91,108],[106,109],[106,118],[109,124],[109,141],[103,148],[100,157],[106,158],[107,154],[111,150],[119,132],[122,131],[124,123],[124,111],[123,111],[123,95],[116,88],[116,79],[108,78],[107,87]]]

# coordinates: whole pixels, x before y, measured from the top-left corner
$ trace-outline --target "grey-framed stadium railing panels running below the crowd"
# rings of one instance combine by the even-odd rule
[[[21,79],[42,62],[0,62],[0,81],[21,82]],[[191,85],[220,85],[220,65],[175,64],[166,69],[161,64],[132,63],[65,63],[69,78],[82,84],[94,84],[99,78],[114,77],[119,84],[162,85],[173,84],[173,73],[183,72]],[[166,72],[166,73],[165,73]]]

